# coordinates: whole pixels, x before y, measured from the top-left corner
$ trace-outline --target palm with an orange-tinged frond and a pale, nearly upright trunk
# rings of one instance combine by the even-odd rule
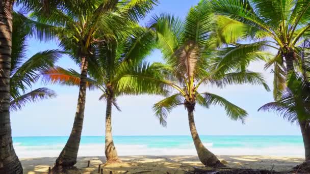
[[[124,28],[123,30],[128,30]],[[96,46],[94,56],[98,68],[89,70],[92,78],[88,78],[87,85],[90,89],[102,91],[100,100],[107,103],[106,109],[106,142],[105,154],[107,163],[121,162],[112,137],[112,105],[119,111],[116,99],[122,95],[137,94],[164,94],[161,83],[161,74],[153,66],[141,63],[154,47],[153,32],[139,27],[138,24],[127,31],[127,36],[116,36],[116,39],[106,38],[106,42]],[[81,76],[76,71],[65,70],[60,67],[51,69],[45,74],[45,80],[64,85],[76,85]]]

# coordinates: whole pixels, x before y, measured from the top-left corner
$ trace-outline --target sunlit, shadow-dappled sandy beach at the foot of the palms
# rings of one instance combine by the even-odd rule
[[[225,160],[229,167],[271,169],[277,171],[289,171],[300,164],[301,157],[281,156],[218,156]],[[23,158],[20,159],[23,173],[47,173],[48,167],[52,167],[56,157]],[[195,167],[203,167],[197,156],[122,156],[122,164],[104,166],[104,173],[184,173]],[[87,167],[88,161],[90,166]],[[105,157],[78,157],[75,165],[80,173],[97,173],[98,165],[105,163]],[[76,173],[76,172],[74,172]]]

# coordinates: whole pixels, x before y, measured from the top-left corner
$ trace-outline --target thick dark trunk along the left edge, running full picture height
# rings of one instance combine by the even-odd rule
[[[10,122],[10,69],[13,0],[0,1],[0,173],[20,174],[21,163],[12,142]]]

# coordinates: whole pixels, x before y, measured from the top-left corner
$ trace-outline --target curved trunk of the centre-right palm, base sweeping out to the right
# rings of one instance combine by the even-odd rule
[[[197,133],[196,126],[195,126],[195,121],[194,121],[194,107],[192,106],[187,106],[188,110],[188,121],[190,125],[190,130],[192,134],[192,138],[195,144],[195,148],[198,154],[199,160],[204,164],[205,166],[212,166],[212,167],[221,167],[225,166],[220,162],[220,160],[208,149],[206,149]]]

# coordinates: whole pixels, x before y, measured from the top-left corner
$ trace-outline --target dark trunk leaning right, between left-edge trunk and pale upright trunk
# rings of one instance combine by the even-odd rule
[[[79,151],[83,120],[84,120],[84,109],[85,109],[85,98],[86,98],[86,78],[87,78],[87,59],[82,56],[82,67],[81,67],[81,80],[80,80],[80,91],[79,98],[77,99],[77,107],[74,118],[73,127],[71,134],[66,143],[66,146],[61,151],[59,157],[56,160],[56,166],[54,170],[60,170],[66,167],[71,167],[76,164],[77,152]]]

